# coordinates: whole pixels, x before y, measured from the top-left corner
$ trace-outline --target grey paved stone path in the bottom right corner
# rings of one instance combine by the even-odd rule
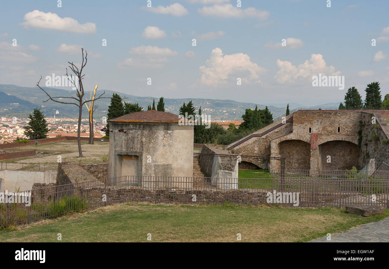
[[[389,217],[363,224],[348,232],[331,234],[331,241],[323,237],[311,242],[389,242]]]

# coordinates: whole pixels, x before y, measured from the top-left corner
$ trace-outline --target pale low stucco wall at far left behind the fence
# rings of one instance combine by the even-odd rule
[[[37,171],[19,171],[19,170],[0,170],[0,178],[4,179],[4,192],[14,192],[15,188],[20,187],[20,191],[32,190],[34,183],[55,183],[57,170]]]

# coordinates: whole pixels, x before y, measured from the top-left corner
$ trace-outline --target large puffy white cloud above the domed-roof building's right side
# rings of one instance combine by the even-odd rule
[[[205,66],[200,66],[201,82],[214,87],[225,84],[229,78],[236,83],[238,77],[242,79],[242,83],[260,82],[259,74],[265,71],[265,68],[253,63],[247,54],[236,53],[223,56],[219,48],[212,50],[209,59],[205,61]]]

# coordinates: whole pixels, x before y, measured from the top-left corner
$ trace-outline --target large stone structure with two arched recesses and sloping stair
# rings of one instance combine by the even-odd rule
[[[235,154],[285,157],[285,169],[344,170],[389,161],[389,110],[298,110],[228,146]],[[245,160],[263,169],[268,161]],[[280,169],[278,160],[270,169]]]

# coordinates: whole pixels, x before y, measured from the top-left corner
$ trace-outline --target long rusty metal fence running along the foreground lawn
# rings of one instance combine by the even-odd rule
[[[121,176],[2,194],[0,227],[124,202],[387,206],[388,193],[389,181],[374,179]]]

